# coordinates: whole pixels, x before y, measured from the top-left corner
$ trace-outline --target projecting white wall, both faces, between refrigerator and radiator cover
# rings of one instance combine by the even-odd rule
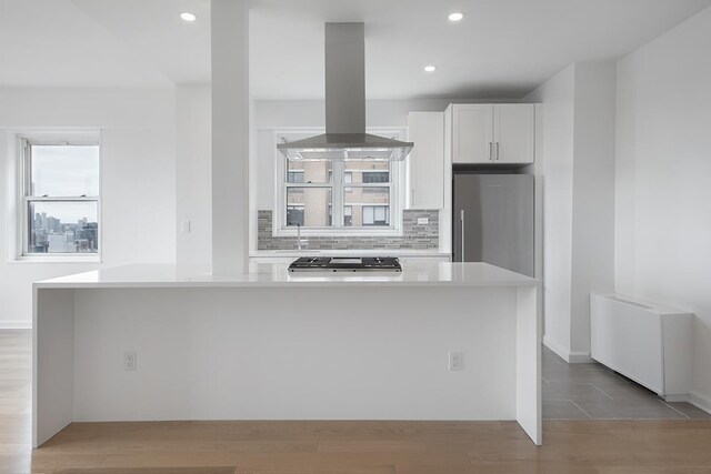
[[[614,286],[614,64],[583,62],[525,98],[541,103],[545,344],[570,362],[590,354],[590,292]]]

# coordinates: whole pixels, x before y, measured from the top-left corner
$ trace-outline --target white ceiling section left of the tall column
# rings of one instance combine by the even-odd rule
[[[0,87],[209,80],[209,0],[0,0]]]

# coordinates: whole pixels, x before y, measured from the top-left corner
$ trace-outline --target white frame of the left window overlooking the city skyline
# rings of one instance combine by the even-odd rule
[[[24,262],[90,262],[100,263],[103,252],[103,225],[102,225],[102,145],[101,134],[98,131],[87,132],[34,132],[17,133],[17,241],[16,261]],[[32,145],[46,147],[99,147],[99,194],[87,196],[36,196],[31,194],[32,188]],[[92,202],[97,205],[97,245],[96,253],[31,253],[29,252],[30,215],[29,208],[32,202]]]

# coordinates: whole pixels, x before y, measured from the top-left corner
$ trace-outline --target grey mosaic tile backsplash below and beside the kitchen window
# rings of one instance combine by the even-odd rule
[[[418,219],[427,218],[427,224],[418,224]],[[272,235],[272,212],[259,211],[259,250],[296,250],[296,236]],[[402,211],[402,235],[398,236],[309,236],[304,250],[370,250],[405,249],[431,250],[439,248],[439,211]],[[304,238],[302,236],[302,240]]]

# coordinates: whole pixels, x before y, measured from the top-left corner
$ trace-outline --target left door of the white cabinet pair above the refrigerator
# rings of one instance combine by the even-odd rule
[[[452,105],[452,162],[490,163],[493,137],[493,105]]]

